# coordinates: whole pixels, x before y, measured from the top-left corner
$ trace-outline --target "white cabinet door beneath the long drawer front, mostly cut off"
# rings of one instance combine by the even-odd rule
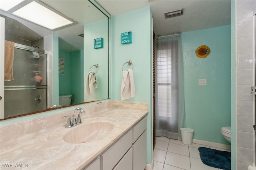
[[[132,170],[132,148],[128,150],[113,170]]]

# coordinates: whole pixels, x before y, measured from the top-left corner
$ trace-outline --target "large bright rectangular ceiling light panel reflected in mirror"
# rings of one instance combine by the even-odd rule
[[[50,30],[73,24],[72,21],[60,16],[35,1],[23,6],[12,14]]]

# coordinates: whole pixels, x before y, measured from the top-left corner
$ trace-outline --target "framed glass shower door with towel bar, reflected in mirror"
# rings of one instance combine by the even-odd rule
[[[4,82],[4,118],[47,109],[46,54],[21,46],[14,48],[14,80]]]

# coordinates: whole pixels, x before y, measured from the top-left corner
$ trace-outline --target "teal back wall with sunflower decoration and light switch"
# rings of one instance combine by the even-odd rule
[[[206,58],[198,58],[200,45],[210,47]],[[187,127],[194,139],[229,144],[221,128],[230,120],[230,26],[182,33]],[[198,85],[206,79],[206,85]]]

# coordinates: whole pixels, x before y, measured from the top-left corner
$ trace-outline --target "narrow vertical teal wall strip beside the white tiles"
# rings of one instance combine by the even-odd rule
[[[231,169],[236,170],[236,1],[231,0]]]

